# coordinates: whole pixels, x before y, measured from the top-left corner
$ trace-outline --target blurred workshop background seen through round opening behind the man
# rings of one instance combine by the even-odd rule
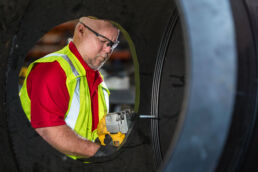
[[[77,20],[62,23],[48,31],[28,52],[19,73],[19,85],[23,84],[29,64],[49,53],[62,49],[72,38]],[[134,65],[129,45],[121,33],[119,45],[100,72],[110,90],[110,111],[133,109],[135,101]]]

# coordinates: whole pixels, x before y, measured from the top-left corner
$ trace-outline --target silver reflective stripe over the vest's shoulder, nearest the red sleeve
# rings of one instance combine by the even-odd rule
[[[79,76],[78,71],[76,70],[76,68],[74,67],[72,61],[69,59],[69,57],[65,54],[58,54],[58,53],[52,53],[49,54],[45,57],[50,57],[50,56],[60,56],[62,58],[64,58],[70,65],[72,72],[75,76]],[[75,124],[77,121],[77,118],[79,116],[79,111],[80,111],[80,77],[76,78],[76,87],[75,87],[75,91],[73,94],[73,99],[70,105],[70,109],[69,112],[65,118],[65,122],[66,124],[71,127],[72,129],[75,128]]]

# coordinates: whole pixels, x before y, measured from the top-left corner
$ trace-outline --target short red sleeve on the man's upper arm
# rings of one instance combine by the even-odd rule
[[[37,64],[27,79],[33,128],[64,125],[69,94],[66,75],[58,62]]]

